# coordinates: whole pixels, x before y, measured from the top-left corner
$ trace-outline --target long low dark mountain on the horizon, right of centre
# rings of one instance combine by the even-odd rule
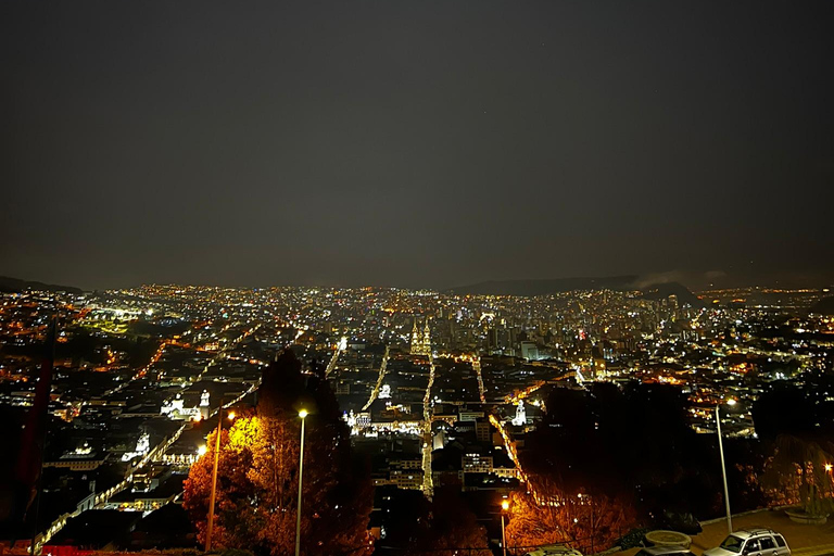
[[[547,295],[576,290],[615,290],[641,291],[645,299],[661,300],[677,295],[681,304],[702,306],[702,301],[685,286],[679,282],[662,282],[654,285],[641,283],[639,276],[609,276],[603,278],[555,278],[551,280],[491,280],[452,288],[451,293],[457,295]]]

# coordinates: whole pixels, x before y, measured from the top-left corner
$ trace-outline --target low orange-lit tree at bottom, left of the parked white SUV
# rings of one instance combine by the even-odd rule
[[[546,544],[569,543],[583,552],[608,548],[636,523],[628,501],[583,492],[565,492],[555,482],[538,479],[530,492],[514,493],[509,506],[507,545],[514,553]]]

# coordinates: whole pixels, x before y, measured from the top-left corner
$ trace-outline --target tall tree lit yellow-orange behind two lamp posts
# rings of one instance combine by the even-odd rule
[[[264,372],[255,415],[235,421],[220,438],[213,543],[273,556],[292,554],[295,542],[301,407],[306,418],[301,552],[306,555],[370,552],[367,523],[371,486],[351,465],[350,438],[323,377],[302,375],[286,351]],[[214,434],[208,445],[214,445]],[[213,453],[191,468],[184,505],[205,541]]]

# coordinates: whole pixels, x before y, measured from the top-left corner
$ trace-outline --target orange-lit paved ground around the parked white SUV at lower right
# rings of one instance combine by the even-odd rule
[[[783,510],[762,510],[733,518],[733,529],[748,527],[769,527],[779,531],[796,556],[834,555],[834,518],[830,518],[824,526],[794,523]],[[725,536],[726,521],[705,525],[704,531],[692,538],[692,552],[700,555],[705,549],[721,544]],[[611,556],[633,556],[637,549],[631,548]]]

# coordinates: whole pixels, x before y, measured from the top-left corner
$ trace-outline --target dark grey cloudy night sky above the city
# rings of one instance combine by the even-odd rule
[[[834,280],[834,2],[0,3],[0,274]]]

